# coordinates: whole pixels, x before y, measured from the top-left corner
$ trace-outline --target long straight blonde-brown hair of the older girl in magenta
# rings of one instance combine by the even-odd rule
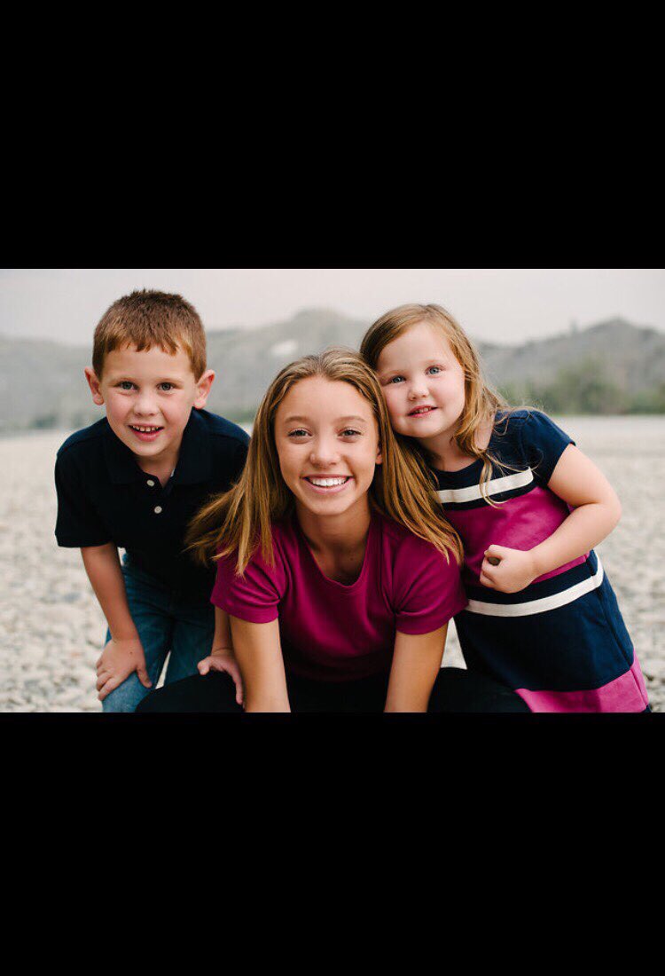
[[[341,347],[303,356],[278,373],[258,407],[240,480],[195,515],[185,539],[188,548],[204,563],[236,552],[237,572],[242,574],[260,543],[261,555],[274,565],[272,523],[294,508],[293,494],[280,470],[275,415],[296,383],[315,376],[348,383],[372,404],[383,459],[370,487],[372,507],[431,543],[447,558],[452,552],[460,563],[459,536],[443,515],[423,459],[400,448],[372,370],[358,352]]]

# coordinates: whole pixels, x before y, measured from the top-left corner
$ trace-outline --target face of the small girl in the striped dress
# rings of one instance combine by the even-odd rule
[[[452,434],[464,410],[464,370],[439,330],[419,322],[376,365],[392,426],[409,437]]]

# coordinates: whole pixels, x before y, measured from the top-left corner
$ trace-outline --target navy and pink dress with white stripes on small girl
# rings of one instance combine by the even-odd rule
[[[571,508],[547,487],[574,441],[538,411],[500,419],[489,441],[492,467],[481,494],[482,461],[434,470],[439,498],[465,551],[469,602],[455,617],[469,670],[513,688],[532,712],[645,712],[645,681],[616,597],[592,549],[538,577],[525,590],[481,586],[490,545],[533,549]]]

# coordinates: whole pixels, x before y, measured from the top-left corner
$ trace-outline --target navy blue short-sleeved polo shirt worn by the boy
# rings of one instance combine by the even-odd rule
[[[138,467],[106,418],[68,437],[58,452],[59,546],[114,543],[132,563],[182,595],[208,598],[215,568],[183,552],[188,522],[212,495],[238,480],[250,438],[207,410],[192,410],[176,470],[162,487]]]

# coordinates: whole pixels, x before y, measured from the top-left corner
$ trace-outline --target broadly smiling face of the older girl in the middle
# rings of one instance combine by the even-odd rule
[[[296,508],[328,516],[368,506],[381,455],[372,406],[353,386],[320,376],[296,383],[277,409],[275,443]]]

